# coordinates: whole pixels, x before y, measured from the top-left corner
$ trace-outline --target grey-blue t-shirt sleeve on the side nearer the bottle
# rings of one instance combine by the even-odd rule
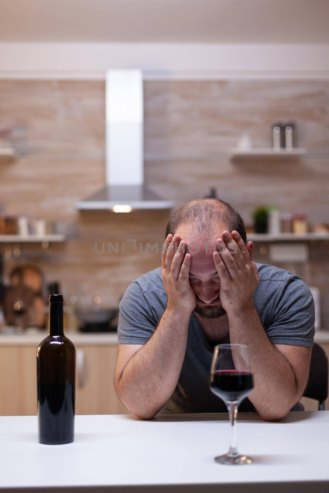
[[[133,281],[119,304],[118,343],[145,344],[156,326],[157,321],[139,283]]]

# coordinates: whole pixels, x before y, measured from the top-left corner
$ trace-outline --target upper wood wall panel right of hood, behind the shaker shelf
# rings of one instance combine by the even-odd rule
[[[274,121],[295,121],[300,146],[329,151],[328,81],[158,81],[145,83],[146,156],[226,153],[248,133],[271,144]]]

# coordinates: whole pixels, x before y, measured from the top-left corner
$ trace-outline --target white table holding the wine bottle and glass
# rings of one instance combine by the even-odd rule
[[[0,492],[328,493],[329,411],[241,414],[251,465],[214,461],[229,428],[225,414],[76,416],[74,442],[52,446],[38,443],[36,416],[0,417]]]

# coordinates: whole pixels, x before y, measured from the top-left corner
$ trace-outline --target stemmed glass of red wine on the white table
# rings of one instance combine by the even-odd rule
[[[210,372],[210,389],[226,404],[231,424],[231,444],[227,454],[215,457],[220,464],[251,464],[236,447],[236,417],[240,402],[253,390],[254,379],[249,349],[244,344],[215,346]]]

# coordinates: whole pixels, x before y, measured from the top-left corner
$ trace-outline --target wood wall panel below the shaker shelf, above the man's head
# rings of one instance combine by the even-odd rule
[[[311,224],[328,222],[329,158],[301,161],[230,162],[166,160],[146,162],[146,181],[154,190],[182,204],[215,187],[251,223],[257,205],[277,205],[305,212]],[[180,193],[178,194],[178,190]]]

